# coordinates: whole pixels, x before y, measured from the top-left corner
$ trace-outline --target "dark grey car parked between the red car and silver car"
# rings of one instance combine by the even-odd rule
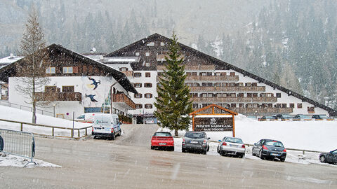
[[[209,151],[209,137],[205,132],[186,132],[182,142],[182,152],[201,151],[206,154]]]

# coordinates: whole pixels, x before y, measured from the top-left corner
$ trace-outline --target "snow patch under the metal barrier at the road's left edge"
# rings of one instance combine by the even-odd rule
[[[60,167],[59,165],[55,165],[50,162],[44,162],[42,160],[33,159],[33,161],[36,162],[37,165],[34,165],[34,163],[29,163],[27,165],[27,162],[29,162],[27,158],[10,154],[4,155],[0,153],[0,166],[24,167],[27,165],[27,167]]]

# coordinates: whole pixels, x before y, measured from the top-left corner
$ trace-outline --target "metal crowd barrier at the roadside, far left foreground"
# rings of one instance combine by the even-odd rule
[[[0,151],[30,159],[25,167],[29,163],[37,165],[33,162],[35,141],[34,135],[30,132],[0,129]]]

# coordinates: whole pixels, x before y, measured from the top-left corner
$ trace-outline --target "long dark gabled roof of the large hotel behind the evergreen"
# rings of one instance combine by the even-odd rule
[[[110,52],[109,54],[105,55],[105,57],[123,56],[125,54],[125,52],[128,52],[130,50],[136,50],[136,49],[138,49],[140,47],[143,47],[148,42],[152,42],[152,41],[158,40],[158,39],[160,41],[163,41],[163,42],[166,42],[166,43],[170,43],[171,42],[170,38],[167,38],[166,36],[161,36],[160,34],[155,33],[155,34],[152,34],[150,36],[147,36],[146,38],[140,39],[139,41],[136,41],[135,43],[127,45],[124,48],[120,48],[119,50],[116,50],[114,52]],[[191,47],[189,47],[187,45],[184,45],[182,43],[178,43],[178,44],[180,45],[181,50],[188,51],[192,55],[195,55],[195,56],[198,56],[198,57],[202,57],[202,58],[204,58],[206,60],[209,60],[209,62],[212,62],[213,64],[216,65],[216,69],[225,69],[225,70],[232,69],[234,71],[242,73],[244,76],[249,76],[250,78],[258,80],[259,83],[265,83],[266,85],[270,85],[271,87],[274,87],[274,89],[277,89],[277,90],[280,90],[282,92],[285,92],[289,96],[292,95],[293,97],[301,99],[302,102],[308,102],[308,103],[314,105],[315,107],[319,107],[321,109],[324,109],[324,110],[326,110],[326,111],[329,112],[330,116],[337,116],[337,111],[334,110],[334,109],[331,109],[328,106],[325,106],[323,104],[319,104],[319,102],[315,102],[314,100],[309,99],[307,97],[304,97],[301,94],[298,94],[296,92],[288,90],[285,87],[282,87],[281,85],[277,85],[276,83],[272,83],[269,80],[265,80],[264,78],[256,76],[253,73],[249,73],[248,71],[245,71],[244,69],[240,69],[237,66],[233,66],[232,64],[229,64],[229,63],[224,62],[224,61],[222,61],[220,59],[217,59],[215,57],[207,55],[204,52],[200,52],[199,50],[195,50],[194,48],[191,48]]]

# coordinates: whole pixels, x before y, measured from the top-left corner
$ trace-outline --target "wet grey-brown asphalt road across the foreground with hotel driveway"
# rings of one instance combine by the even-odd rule
[[[336,167],[150,150],[157,125],[124,125],[114,141],[36,138],[39,160],[0,167],[0,188],[337,188]]]

